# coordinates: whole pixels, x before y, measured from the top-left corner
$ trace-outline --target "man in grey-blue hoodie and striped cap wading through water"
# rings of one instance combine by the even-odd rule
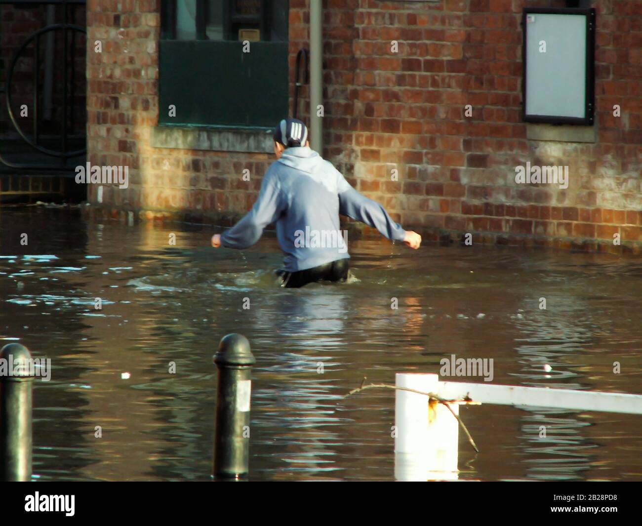
[[[383,206],[352,188],[330,162],[309,148],[308,128],[302,121],[283,119],[273,138],[277,161],[266,171],[256,203],[234,227],[212,236],[214,248],[247,249],[267,225],[276,222],[285,254],[277,274],[281,286],[287,287],[347,279],[350,256],[339,230],[339,214],[376,228],[390,240],[419,248],[417,232],[405,231]]]

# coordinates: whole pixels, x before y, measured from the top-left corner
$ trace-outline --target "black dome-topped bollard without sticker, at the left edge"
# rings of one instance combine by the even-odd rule
[[[0,480],[31,479],[31,353],[21,344],[0,350]],[[17,373],[17,374],[14,374]]]

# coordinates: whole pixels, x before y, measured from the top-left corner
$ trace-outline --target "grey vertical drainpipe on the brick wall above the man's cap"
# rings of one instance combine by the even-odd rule
[[[310,0],[310,146],[323,156],[323,9],[322,0]]]

